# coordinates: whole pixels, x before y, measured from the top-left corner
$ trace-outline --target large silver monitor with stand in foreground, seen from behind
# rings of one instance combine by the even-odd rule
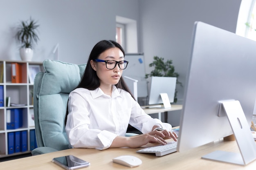
[[[216,151],[202,158],[241,165],[254,161],[249,125],[256,99],[256,42],[195,22],[188,70],[177,151],[234,134],[240,153]]]

